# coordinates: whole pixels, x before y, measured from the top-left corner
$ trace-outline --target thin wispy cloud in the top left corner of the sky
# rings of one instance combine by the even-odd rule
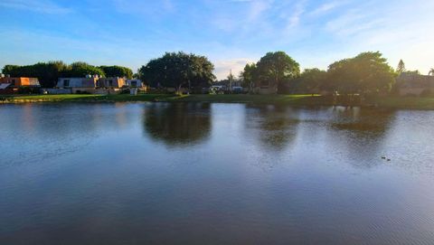
[[[56,5],[47,0],[2,0],[0,6],[43,14],[67,14],[72,12],[70,8]]]

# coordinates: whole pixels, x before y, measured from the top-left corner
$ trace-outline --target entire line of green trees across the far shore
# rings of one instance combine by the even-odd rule
[[[165,52],[138,69],[137,76],[154,88],[172,87],[189,90],[208,87],[215,81],[214,65],[207,57],[185,52]],[[276,88],[279,93],[318,93],[322,91],[342,94],[389,93],[399,73],[405,71],[402,61],[393,70],[381,52],[362,52],[353,58],[335,61],[326,71],[306,69],[286,52],[268,52],[256,63],[248,63],[239,80],[243,87]],[[3,73],[11,76],[37,77],[42,87],[53,87],[59,77],[132,78],[133,72],[122,66],[92,66],[85,62],[66,64],[62,61],[39,62],[33,65],[6,65]],[[434,71],[432,71],[434,74]]]

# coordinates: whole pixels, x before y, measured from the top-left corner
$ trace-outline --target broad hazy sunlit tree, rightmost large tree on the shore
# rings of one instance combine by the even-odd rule
[[[377,94],[392,89],[395,72],[381,52],[363,52],[354,58],[336,61],[328,67],[329,90],[340,93]]]

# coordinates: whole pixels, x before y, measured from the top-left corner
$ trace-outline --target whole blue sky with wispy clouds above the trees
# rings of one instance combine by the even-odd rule
[[[396,67],[434,67],[431,0],[0,0],[0,66],[37,61],[118,64],[134,71],[164,52],[194,52],[216,75],[270,51],[326,69],[381,51]]]

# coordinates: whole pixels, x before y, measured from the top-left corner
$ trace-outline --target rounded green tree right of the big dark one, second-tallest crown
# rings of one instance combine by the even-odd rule
[[[300,65],[286,52],[268,52],[260,58],[257,66],[260,85],[278,88],[284,82],[300,74]]]

